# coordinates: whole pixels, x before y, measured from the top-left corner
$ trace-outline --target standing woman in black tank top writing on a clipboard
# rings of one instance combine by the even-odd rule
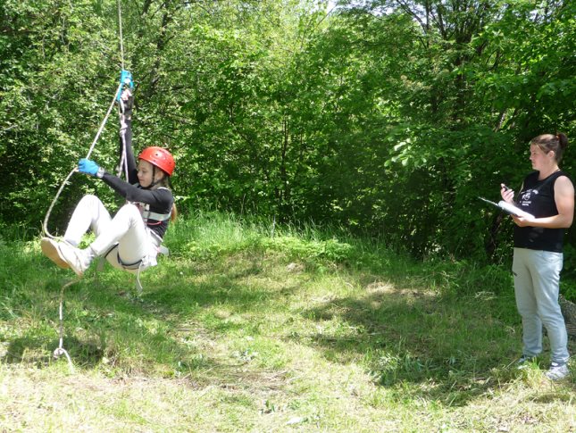
[[[563,266],[563,233],[572,225],[574,187],[558,164],[568,146],[564,134],[543,134],[530,141],[532,171],[523,181],[515,205],[533,218],[513,216],[513,278],[516,306],[522,316],[522,357],[529,362],[542,352],[542,325],[550,340],[548,379],[563,379],[568,370],[568,338],[558,304]],[[513,203],[513,191],[502,185],[502,198]]]

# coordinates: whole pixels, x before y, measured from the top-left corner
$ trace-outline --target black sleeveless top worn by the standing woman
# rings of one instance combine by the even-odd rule
[[[554,184],[560,176],[568,175],[563,171],[556,171],[546,179],[538,180],[538,173],[533,171],[526,176],[516,204],[522,211],[529,212],[536,218],[557,215]],[[563,236],[564,229],[514,226],[514,246],[517,248],[562,253]]]

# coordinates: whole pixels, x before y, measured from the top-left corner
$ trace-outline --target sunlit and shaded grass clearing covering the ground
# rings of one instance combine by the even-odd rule
[[[574,373],[528,369],[509,272],[338,230],[179,221],[142,276],[0,242],[3,431],[574,431]],[[96,268],[96,266],[94,267]],[[574,344],[571,342],[574,353]],[[572,367],[573,371],[573,367]]]

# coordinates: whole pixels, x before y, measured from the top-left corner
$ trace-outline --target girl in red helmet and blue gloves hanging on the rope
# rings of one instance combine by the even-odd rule
[[[72,213],[63,242],[42,238],[42,251],[61,268],[70,268],[80,277],[98,256],[104,256],[113,267],[138,273],[156,265],[156,255],[163,252],[162,240],[169,221],[176,217],[169,178],[174,159],[162,147],[146,147],[138,156],[138,167],[132,151],[131,112],[134,98],[129,88],[123,90],[121,103],[122,171],[128,182],[108,173],[94,161],[79,160],[78,171],[102,179],[127,200],[111,218],[100,199],[82,197]],[[126,163],[126,167],[123,166]],[[88,231],[96,239],[79,249],[81,237]]]

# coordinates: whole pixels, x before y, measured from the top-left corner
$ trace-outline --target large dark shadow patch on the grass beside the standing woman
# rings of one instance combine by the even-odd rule
[[[450,405],[466,404],[519,375],[519,323],[498,317],[513,298],[441,299],[417,290],[371,287],[365,296],[313,306],[319,324],[345,323],[308,336],[332,362],[362,360],[374,382]],[[509,305],[503,305],[509,304]],[[408,385],[408,387],[405,387]],[[564,382],[564,386],[574,387]]]

